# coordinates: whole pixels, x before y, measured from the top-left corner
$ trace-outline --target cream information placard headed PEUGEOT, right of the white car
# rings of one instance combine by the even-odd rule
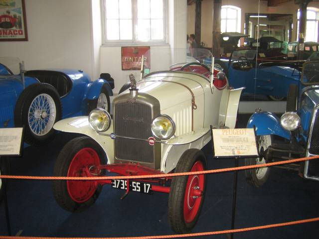
[[[258,156],[253,128],[212,129],[215,157]]]

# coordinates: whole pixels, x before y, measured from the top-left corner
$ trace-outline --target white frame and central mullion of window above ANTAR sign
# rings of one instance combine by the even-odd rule
[[[136,46],[136,45],[166,45],[167,44],[167,34],[168,34],[168,2],[167,0],[163,1],[163,39],[160,40],[137,40],[137,24],[138,21],[138,0],[131,0],[132,2],[132,40],[108,40],[107,39],[107,29],[106,29],[106,0],[101,0],[101,17],[102,17],[102,45],[103,46],[121,46],[123,44],[127,46]],[[149,18],[152,20],[152,18]],[[151,31],[151,28],[150,28]]]

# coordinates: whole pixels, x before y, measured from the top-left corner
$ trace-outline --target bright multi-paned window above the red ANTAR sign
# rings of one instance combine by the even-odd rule
[[[105,42],[165,42],[165,0],[104,0]]]

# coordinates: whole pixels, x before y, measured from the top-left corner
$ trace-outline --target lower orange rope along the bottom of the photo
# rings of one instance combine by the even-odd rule
[[[163,236],[144,236],[144,237],[122,237],[122,238],[53,238],[53,237],[8,237],[8,236],[0,236],[0,239],[165,239],[165,238],[184,238],[184,237],[199,237],[199,236],[211,236],[211,235],[220,235],[220,234],[229,234],[229,233],[242,233],[249,232],[255,230],[269,229],[269,228],[277,228],[277,227],[286,227],[292,226],[296,224],[303,223],[312,223],[318,222],[319,218],[311,218],[299,221],[293,221],[288,223],[278,223],[278,224],[270,224],[264,226],[257,226],[251,228],[242,228],[242,229],[233,229],[233,230],[224,230],[224,231],[215,231],[215,232],[206,232],[206,233],[191,233],[191,234],[178,234],[178,235],[163,235]]]

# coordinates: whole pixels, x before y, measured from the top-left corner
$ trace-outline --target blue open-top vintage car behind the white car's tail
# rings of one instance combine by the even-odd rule
[[[231,87],[246,87],[243,94],[266,95],[280,101],[287,97],[291,84],[299,84],[301,65],[298,62],[271,62],[269,52],[236,50],[229,59],[216,59],[214,67],[226,74]],[[210,65],[211,60],[205,59],[204,63]]]

